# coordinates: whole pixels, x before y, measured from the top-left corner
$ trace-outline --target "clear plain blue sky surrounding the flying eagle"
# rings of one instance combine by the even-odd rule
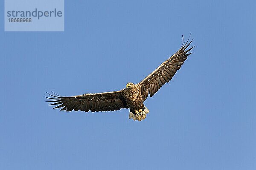
[[[1,170],[255,170],[256,3],[66,1],[64,32],[4,32]],[[3,11],[4,6],[0,6]],[[3,13],[2,13],[3,14]],[[175,77],[129,110],[60,112],[44,102],[140,82],[192,32]]]

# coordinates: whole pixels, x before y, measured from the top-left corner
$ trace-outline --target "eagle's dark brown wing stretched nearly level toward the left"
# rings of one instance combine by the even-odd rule
[[[49,93],[47,93],[49,94]],[[96,93],[96,94],[83,94],[79,96],[63,97],[57,94],[51,97],[46,97],[51,99],[52,104],[58,105],[55,108],[61,108],[60,111],[116,111],[121,108],[128,108],[125,100],[122,97],[120,91]],[[54,108],[54,109],[55,109]]]

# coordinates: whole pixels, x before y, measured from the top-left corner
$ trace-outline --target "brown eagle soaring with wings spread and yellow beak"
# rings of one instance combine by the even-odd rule
[[[50,100],[46,102],[50,102],[49,105],[57,105],[55,108],[61,108],[60,111],[67,112],[73,110],[85,112],[117,111],[121,108],[127,108],[130,109],[129,119],[141,121],[149,113],[148,108],[143,104],[148,94],[152,97],[164,84],[169,82],[191,54],[188,52],[195,47],[188,48],[192,40],[189,41],[188,39],[184,42],[183,36],[182,40],[182,45],[175,54],[137,84],[128,82],[126,87],[119,91],[70,97],[59,96],[52,92],[53,94],[47,93],[50,96],[46,98]]]

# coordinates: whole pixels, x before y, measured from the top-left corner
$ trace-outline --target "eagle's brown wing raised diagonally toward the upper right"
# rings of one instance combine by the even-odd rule
[[[189,48],[188,50],[187,48],[191,44],[192,40],[190,42],[187,40],[187,42],[184,44],[183,36],[182,39],[183,43],[181,48],[139,83],[143,101],[147,99],[148,93],[152,97],[155,93],[157,93],[162,85],[169,82],[175,75],[176,71],[180,69],[181,65],[183,65],[189,54],[191,54],[188,52],[195,46]]]

